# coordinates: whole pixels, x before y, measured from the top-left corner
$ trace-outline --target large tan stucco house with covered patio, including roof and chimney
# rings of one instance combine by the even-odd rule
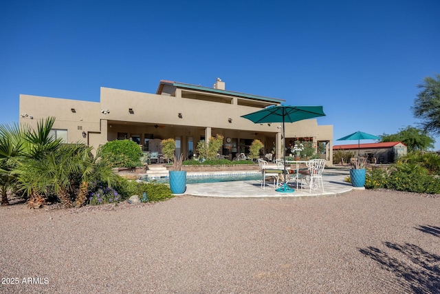
[[[254,124],[241,116],[284,102],[225,90],[220,78],[213,87],[162,80],[155,94],[101,87],[99,102],[21,94],[19,122],[36,127],[41,118],[55,116],[54,136],[66,143],[84,142],[95,149],[110,140],[129,138],[146,151],[160,152],[160,140],[175,138],[177,155],[191,158],[200,140],[221,134],[225,158],[248,153],[254,139],[264,144],[263,154],[275,149],[276,158],[280,158],[280,125]],[[286,124],[285,134],[286,142],[299,139],[313,140],[315,145],[325,143],[322,158],[331,165],[332,125],[302,120]]]

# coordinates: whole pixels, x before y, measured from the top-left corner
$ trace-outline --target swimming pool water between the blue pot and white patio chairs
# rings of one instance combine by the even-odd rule
[[[340,176],[331,172],[324,172],[322,176]],[[141,180],[146,182],[161,182],[168,184],[168,177],[148,178],[144,177]],[[232,182],[237,180],[261,180],[261,173],[259,171],[240,174],[188,174],[186,176],[187,184],[201,184],[205,182]]]

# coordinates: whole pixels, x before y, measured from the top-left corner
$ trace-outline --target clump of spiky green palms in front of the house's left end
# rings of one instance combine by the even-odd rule
[[[8,189],[13,182],[28,196],[30,207],[41,207],[52,196],[64,207],[80,206],[87,200],[89,182],[107,182],[111,186],[118,178],[99,154],[96,158],[91,155],[91,147],[82,143],[63,144],[55,139],[50,134],[54,121],[50,117],[40,120],[36,129],[24,127],[15,132],[17,138],[1,136],[0,129],[0,184]],[[5,132],[10,133],[15,134]]]

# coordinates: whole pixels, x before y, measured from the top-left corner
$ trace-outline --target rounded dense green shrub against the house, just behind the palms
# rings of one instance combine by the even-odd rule
[[[101,160],[109,167],[140,167],[142,150],[133,140],[113,140],[100,147]]]

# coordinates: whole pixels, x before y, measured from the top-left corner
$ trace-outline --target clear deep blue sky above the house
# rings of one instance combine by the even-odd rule
[[[97,2],[1,1],[0,124],[18,122],[19,94],[99,101],[219,77],[322,105],[335,140],[380,136],[417,127],[417,85],[440,74],[438,0]]]

